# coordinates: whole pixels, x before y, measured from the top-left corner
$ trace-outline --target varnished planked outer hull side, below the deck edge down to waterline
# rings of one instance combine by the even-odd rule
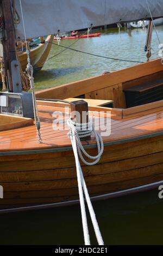
[[[72,151],[5,156],[0,166],[0,209],[79,198]],[[82,169],[91,196],[163,180],[163,135],[105,145],[101,161]]]

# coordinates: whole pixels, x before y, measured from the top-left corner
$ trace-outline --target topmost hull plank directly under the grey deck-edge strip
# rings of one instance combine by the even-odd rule
[[[163,136],[143,139],[130,143],[105,147],[99,163],[114,162],[163,151]],[[96,149],[87,149],[88,154],[95,154]],[[0,157],[1,172],[22,172],[34,170],[50,170],[74,167],[72,151],[48,154],[34,154],[25,156]],[[18,161],[19,160],[19,161]],[[45,164],[46,163],[46,164]],[[81,163],[84,166],[83,163]]]

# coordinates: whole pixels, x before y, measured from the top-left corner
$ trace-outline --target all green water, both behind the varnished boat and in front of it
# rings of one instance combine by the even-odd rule
[[[163,27],[157,27],[163,41]],[[80,39],[72,47],[108,57],[145,61],[145,31],[133,29],[130,33],[110,29],[99,38]],[[69,46],[73,40],[61,41]],[[158,57],[158,40],[153,32],[152,58]],[[53,45],[49,57],[62,51]],[[99,75],[133,65],[87,56],[66,50],[48,60],[35,75],[36,89],[58,86],[83,78]],[[162,214],[163,199],[158,199],[158,190],[148,191],[93,203],[104,242],[107,245],[163,245]],[[90,224],[92,244],[96,244]],[[83,231],[80,207],[21,212],[0,216],[1,245],[81,245]]]

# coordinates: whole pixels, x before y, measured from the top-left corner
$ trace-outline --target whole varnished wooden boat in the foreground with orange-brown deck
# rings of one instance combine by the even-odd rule
[[[11,21],[11,14],[7,11],[10,1],[2,3],[4,17]],[[121,13],[121,8],[118,10]],[[158,8],[158,16],[159,11]],[[5,29],[13,39],[11,23],[6,22]],[[68,30],[67,27],[65,29]],[[17,83],[20,77],[18,62],[14,51],[11,51],[15,45],[10,40],[5,46],[10,49],[10,90],[12,86],[14,90],[20,90]],[[37,92],[42,143],[38,142],[33,114],[26,113],[32,105],[31,95],[21,91],[1,93],[0,185],[3,186],[4,196],[0,199],[0,212],[78,202],[76,164],[67,130],[52,128],[53,113],[65,113],[65,107],[66,112],[70,112],[70,105],[53,102],[53,99],[82,97],[88,102],[90,117],[95,119],[102,112],[103,125],[108,119],[111,120],[110,135],[103,136],[103,130],[98,129],[104,141],[101,160],[96,166],[81,163],[92,199],[122,196],[163,184],[162,71],[163,65],[158,58]],[[7,102],[8,97],[11,100]],[[63,117],[66,124],[66,115]],[[96,154],[94,137],[83,141],[83,146],[89,154]]]

